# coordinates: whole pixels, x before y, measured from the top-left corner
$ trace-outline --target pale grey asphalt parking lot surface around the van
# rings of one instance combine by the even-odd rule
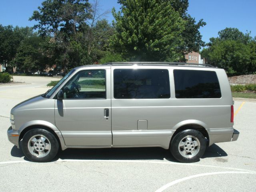
[[[30,162],[8,141],[10,110],[56,78],[14,76],[0,86],[0,191],[256,191],[256,102],[235,101],[235,142],[214,144],[199,162],[176,162],[162,148],[67,149]]]

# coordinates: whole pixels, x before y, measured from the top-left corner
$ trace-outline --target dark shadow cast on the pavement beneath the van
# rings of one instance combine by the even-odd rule
[[[22,158],[24,154],[22,150],[16,146],[12,147],[11,155],[14,157]],[[228,154],[222,150],[218,145],[213,144],[206,148],[202,158],[223,157]],[[104,149],[66,149],[60,151],[53,161],[58,158],[74,159],[74,160],[168,160],[177,162],[169,150],[160,147],[148,148],[104,148]],[[24,160],[28,160],[24,157]],[[30,160],[28,160],[30,161]]]

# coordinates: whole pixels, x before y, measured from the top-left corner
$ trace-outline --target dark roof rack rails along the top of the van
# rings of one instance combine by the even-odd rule
[[[171,65],[171,66],[196,66],[214,67],[210,64],[180,63],[180,62],[109,62],[107,65]]]

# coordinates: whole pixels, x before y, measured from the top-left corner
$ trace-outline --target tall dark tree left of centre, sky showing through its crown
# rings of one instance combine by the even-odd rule
[[[42,36],[52,38],[49,48],[54,52],[52,64],[68,70],[81,61],[82,44],[79,27],[91,18],[88,0],[46,0],[34,11],[30,20]],[[79,51],[79,52],[77,52]]]

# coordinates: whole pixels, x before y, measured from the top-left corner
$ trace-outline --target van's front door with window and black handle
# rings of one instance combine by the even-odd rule
[[[66,146],[111,147],[110,67],[78,71],[55,102],[55,124]],[[109,82],[109,83],[107,83]]]

